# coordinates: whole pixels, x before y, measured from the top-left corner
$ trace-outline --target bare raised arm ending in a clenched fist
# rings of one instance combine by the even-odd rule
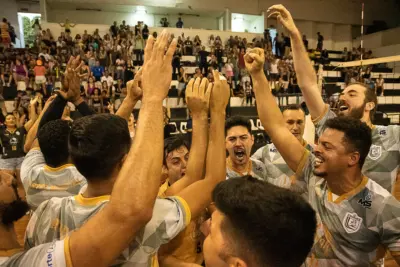
[[[285,126],[282,113],[263,72],[264,60],[264,50],[260,48],[253,49],[245,55],[246,68],[253,79],[258,116],[279,153],[288,166],[296,171],[303,157],[304,147]]]

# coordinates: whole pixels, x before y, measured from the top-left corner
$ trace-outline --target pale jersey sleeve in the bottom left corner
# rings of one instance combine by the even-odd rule
[[[3,267],[69,267],[65,259],[64,240],[46,243],[10,257]]]

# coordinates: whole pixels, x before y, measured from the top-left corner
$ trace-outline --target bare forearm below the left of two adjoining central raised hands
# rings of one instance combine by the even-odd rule
[[[189,161],[187,164],[186,175],[172,186],[165,194],[173,196],[182,189],[204,177],[204,164],[207,152],[208,138],[208,117],[207,113],[193,114],[193,133],[192,145],[190,147]]]

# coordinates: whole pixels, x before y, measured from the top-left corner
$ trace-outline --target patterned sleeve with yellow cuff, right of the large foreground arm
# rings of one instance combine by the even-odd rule
[[[169,197],[156,200],[153,217],[144,228],[141,246],[156,252],[161,245],[176,237],[190,223],[191,213],[183,198]]]

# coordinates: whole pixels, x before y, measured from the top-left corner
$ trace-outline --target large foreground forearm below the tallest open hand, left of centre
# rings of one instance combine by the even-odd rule
[[[162,102],[143,102],[135,142],[111,195],[116,209],[128,216],[143,209],[151,213],[160,185],[163,144]]]

